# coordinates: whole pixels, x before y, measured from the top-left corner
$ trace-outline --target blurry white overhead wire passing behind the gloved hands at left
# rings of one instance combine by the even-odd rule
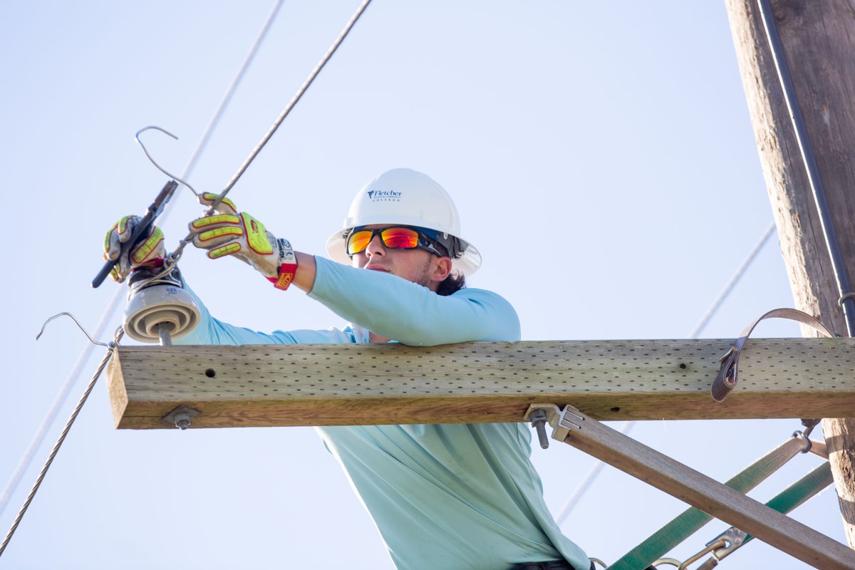
[[[274,7],[270,10],[267,18],[265,19],[261,31],[258,32],[257,37],[253,41],[249,52],[245,56],[244,61],[241,63],[238,73],[235,74],[231,83],[229,83],[223,97],[221,98],[220,103],[217,105],[214,115],[209,120],[208,125],[205,126],[202,137],[199,138],[199,142],[196,145],[195,150],[193,150],[192,155],[186,162],[186,165],[181,172],[182,179],[188,178],[190,173],[192,173],[193,168],[196,167],[199,157],[202,156],[202,152],[208,144],[211,133],[214,132],[216,126],[219,124],[223,112],[225,111],[228,103],[231,101],[234,92],[237,91],[241,80],[245,76],[246,70],[250,67],[251,62],[255,59],[255,56],[258,52],[259,47],[262,44],[263,39],[267,36],[268,31],[270,30],[270,26],[273,24],[273,21],[276,15],[279,13],[279,10],[284,2],[285,0],[276,0],[276,2],[274,3]],[[163,210],[163,214],[161,214],[161,221],[166,219],[171,208],[172,203],[168,203],[166,208]],[[104,329],[109,323],[109,320],[115,313],[115,309],[119,304],[119,300],[122,297],[123,291],[124,290],[121,288],[115,289],[113,297],[110,297],[106,309],[104,309],[103,313],[101,314],[100,320],[98,320],[97,326],[95,326],[94,332],[92,333],[93,337],[98,338],[103,334]],[[50,428],[50,426],[53,425],[53,422],[56,420],[56,415],[59,414],[60,408],[62,408],[62,404],[65,403],[65,400],[68,397],[68,392],[71,390],[72,386],[76,384],[77,379],[80,377],[80,372],[82,371],[85,362],[89,360],[89,357],[92,354],[93,346],[94,345],[92,344],[86,344],[85,348],[80,351],[80,356],[78,356],[77,361],[74,363],[74,367],[72,367],[71,372],[68,373],[68,377],[62,383],[62,386],[60,386],[59,391],[57,391],[56,398],[54,398],[54,402],[50,405],[47,414],[44,414],[44,419],[42,420],[41,424],[39,424],[30,443],[27,445],[27,450],[25,450],[23,455],[21,455],[21,460],[18,461],[18,465],[15,467],[15,471],[12,472],[12,475],[9,478],[9,482],[3,488],[3,493],[0,494],[0,516],[3,515],[4,509],[9,504],[9,498],[15,492],[15,489],[17,489],[18,485],[21,483],[21,478],[23,477],[24,473],[27,472],[27,469],[30,467],[33,455],[35,455],[38,448],[44,443],[44,437],[46,436],[48,429]]]

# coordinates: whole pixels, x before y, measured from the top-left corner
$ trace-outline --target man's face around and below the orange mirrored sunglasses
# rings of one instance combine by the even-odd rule
[[[365,229],[374,230],[385,227],[391,226],[365,226]],[[354,254],[351,263],[353,267],[398,275],[398,277],[428,287],[432,291],[436,291],[439,282],[447,277],[451,268],[451,260],[447,257],[433,256],[426,250],[392,250],[386,248],[383,245],[383,240],[380,239],[380,234],[374,235],[365,251]],[[445,268],[446,265],[448,269]]]

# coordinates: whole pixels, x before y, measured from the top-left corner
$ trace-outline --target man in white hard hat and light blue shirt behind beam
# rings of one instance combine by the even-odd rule
[[[203,195],[213,203],[215,195]],[[123,218],[105,254],[119,256],[133,230]],[[416,346],[517,341],[516,312],[464,278],[481,264],[461,238],[457,209],[433,179],[398,168],[365,185],[344,230],[327,241],[334,261],[292,251],[255,218],[224,200],[217,214],[190,224],[208,256],[238,257],[274,286],[294,285],[351,324],[341,330],[252,332],[213,318],[203,304],[182,344],[386,343]],[[162,263],[152,232],[120,260],[114,278]],[[367,270],[367,271],[366,271]],[[524,423],[317,428],[374,518],[400,570],[509,570],[593,567],[564,538],[545,507],[529,461]]]

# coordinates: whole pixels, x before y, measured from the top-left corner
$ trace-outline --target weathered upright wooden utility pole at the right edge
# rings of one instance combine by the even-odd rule
[[[725,3],[795,307],[847,336],[840,291],[761,8],[758,0]],[[852,280],[855,9],[849,0],[774,0],[771,13],[824,186],[839,259]],[[803,333],[812,334],[807,329]],[[840,382],[855,379],[841,378]],[[823,433],[846,538],[855,548],[855,420],[825,419]]]

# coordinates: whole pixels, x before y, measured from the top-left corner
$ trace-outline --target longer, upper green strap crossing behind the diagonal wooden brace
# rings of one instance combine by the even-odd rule
[[[801,439],[787,439],[786,442],[779,445],[775,450],[769,451],[758,461],[754,461],[724,485],[745,494],[769,475],[775,473],[803,449],[804,444]],[[688,508],[677,518],[653,533],[650,538],[623,555],[608,570],[644,570],[653,561],[661,558],[670,549],[692,536],[701,526],[711,520],[711,515],[704,511],[694,507]]]

